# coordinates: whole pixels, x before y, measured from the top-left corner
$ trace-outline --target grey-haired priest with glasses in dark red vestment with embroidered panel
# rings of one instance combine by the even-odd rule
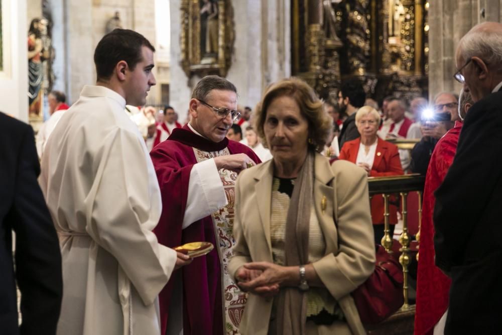
[[[151,152],[162,193],[155,233],[176,247],[211,242],[206,256],[177,271],[160,294],[162,334],[235,334],[245,294],[227,273],[237,174],[260,163],[248,147],[225,136],[239,113],[237,90],[228,80],[206,76],[189,103],[191,121],[174,129]]]

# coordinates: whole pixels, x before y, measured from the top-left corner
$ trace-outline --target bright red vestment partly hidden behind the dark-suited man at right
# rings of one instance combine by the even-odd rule
[[[461,129],[462,123],[457,121],[455,127],[450,129],[439,140],[427,169],[417,273],[416,335],[432,335],[434,326],[448,308],[448,291],[451,280],[434,265],[434,224],[432,215],[436,202],[434,192],[443,182],[451,163],[453,163]],[[451,224],[454,225],[455,222],[451,222]]]

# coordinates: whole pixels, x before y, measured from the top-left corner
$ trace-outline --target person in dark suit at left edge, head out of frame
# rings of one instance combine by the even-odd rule
[[[61,254],[37,182],[40,165],[33,130],[0,113],[0,143],[0,333],[55,334],[63,289]]]

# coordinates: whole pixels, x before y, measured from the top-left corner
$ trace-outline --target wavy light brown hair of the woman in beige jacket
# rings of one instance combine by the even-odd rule
[[[282,96],[289,96],[296,101],[301,115],[308,121],[309,144],[313,149],[321,152],[332,132],[333,119],[324,110],[323,103],[314,89],[296,77],[283,79],[269,86],[262,101],[256,106],[255,128],[262,143],[267,144],[268,147],[264,132],[267,109],[274,99]]]

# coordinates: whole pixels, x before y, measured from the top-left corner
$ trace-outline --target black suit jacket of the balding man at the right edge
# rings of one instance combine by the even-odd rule
[[[476,250],[502,239],[498,209],[502,201],[500,101],[502,93],[494,93],[471,107],[453,164],[435,192],[436,265],[447,273],[464,263],[474,237],[484,239],[474,246]]]

